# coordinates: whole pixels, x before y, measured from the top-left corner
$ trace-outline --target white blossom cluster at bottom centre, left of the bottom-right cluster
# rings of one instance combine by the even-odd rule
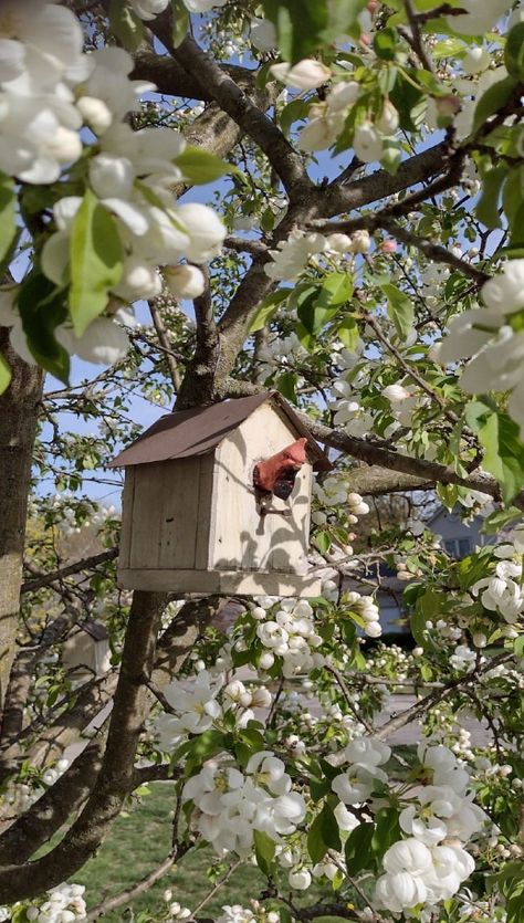
[[[279,842],[305,816],[304,798],[292,790],[284,763],[270,751],[254,754],[244,773],[209,763],[186,783],[182,799],[193,801],[191,822],[218,856],[248,856],[255,830]]]

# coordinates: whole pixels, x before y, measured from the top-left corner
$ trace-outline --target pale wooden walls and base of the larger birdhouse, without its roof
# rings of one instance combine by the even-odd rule
[[[220,412],[227,415],[228,405]],[[223,436],[220,422],[214,448],[203,454],[151,461],[143,454],[127,463],[119,586],[316,596],[321,583],[316,574],[306,575],[312,459],[297,473],[287,501],[271,499],[270,508],[287,515],[261,515],[253,485],[254,465],[294,442],[300,427],[269,400],[234,426],[226,419]],[[191,426],[190,445],[199,447],[209,430]]]

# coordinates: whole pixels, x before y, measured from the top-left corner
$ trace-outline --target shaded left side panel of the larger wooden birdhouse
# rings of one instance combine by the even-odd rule
[[[195,567],[198,493],[198,459],[135,466],[132,570]]]

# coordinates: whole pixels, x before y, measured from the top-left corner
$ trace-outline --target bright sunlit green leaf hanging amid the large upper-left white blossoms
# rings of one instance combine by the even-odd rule
[[[74,218],[70,254],[71,318],[76,336],[82,336],[104,311],[124,260],[116,221],[91,189]]]

